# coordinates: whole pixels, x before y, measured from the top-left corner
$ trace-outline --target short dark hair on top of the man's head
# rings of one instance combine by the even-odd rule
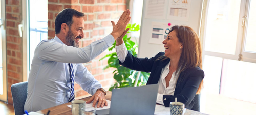
[[[71,8],[66,8],[59,12],[59,14],[55,18],[55,34],[60,33],[62,23],[66,23],[70,28],[73,23],[73,16],[80,18],[83,17],[84,14]]]

